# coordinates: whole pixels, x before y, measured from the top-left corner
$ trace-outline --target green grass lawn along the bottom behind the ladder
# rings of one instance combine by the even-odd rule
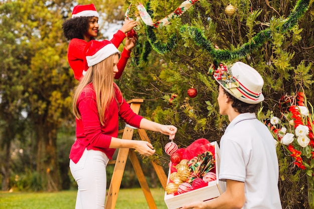
[[[163,188],[151,188],[158,209],[167,209]],[[74,209],[76,191],[4,192],[0,191],[0,208],[6,209]],[[149,208],[141,188],[120,189],[115,209]]]

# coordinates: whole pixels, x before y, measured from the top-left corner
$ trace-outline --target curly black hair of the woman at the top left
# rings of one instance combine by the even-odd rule
[[[71,40],[74,38],[84,39],[84,34],[87,32],[89,27],[89,20],[92,17],[78,17],[70,18],[63,22],[62,30],[65,38]],[[91,37],[94,39],[94,37]]]

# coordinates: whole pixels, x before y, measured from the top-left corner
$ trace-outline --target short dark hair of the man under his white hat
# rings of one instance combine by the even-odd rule
[[[224,90],[225,94],[227,95],[227,97],[232,100],[232,105],[231,106],[238,113],[246,113],[246,112],[256,113],[259,110],[260,106],[261,106],[261,103],[248,104],[248,103],[242,102],[242,101],[238,100],[237,98],[235,98],[234,96],[232,96],[225,89],[223,89],[223,90]]]

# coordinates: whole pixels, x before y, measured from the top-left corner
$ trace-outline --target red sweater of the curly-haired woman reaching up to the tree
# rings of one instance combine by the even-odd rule
[[[118,30],[117,33],[113,35],[113,38],[110,40],[112,44],[118,48],[119,45],[122,43],[123,39],[125,38],[125,34]],[[76,80],[81,80],[83,77],[83,70],[87,70],[88,67],[83,64],[83,60],[85,59],[84,50],[87,45],[87,42],[82,39],[71,39],[69,46],[68,46],[68,62],[70,67],[74,72],[74,78]],[[130,57],[131,51],[123,49],[121,53],[121,58],[117,64],[119,72],[115,74],[115,79],[119,79],[123,73],[125,68],[126,62]]]

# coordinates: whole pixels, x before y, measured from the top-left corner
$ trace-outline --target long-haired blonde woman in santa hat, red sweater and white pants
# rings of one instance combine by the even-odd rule
[[[78,184],[75,208],[98,209],[104,208],[106,165],[116,148],[133,148],[144,156],[155,153],[146,141],[117,138],[119,116],[131,126],[161,132],[170,139],[177,128],[149,121],[130,109],[113,82],[119,51],[111,42],[91,40],[85,55],[89,69],[73,99],[76,141],[70,151],[70,170]]]

